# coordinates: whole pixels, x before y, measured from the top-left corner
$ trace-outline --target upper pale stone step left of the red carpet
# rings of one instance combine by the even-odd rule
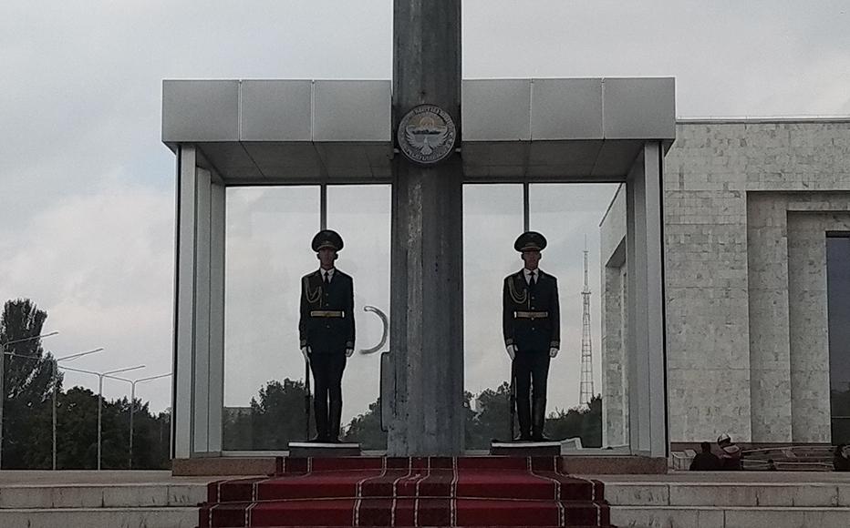
[[[179,484],[59,484],[0,487],[0,513],[49,508],[169,508],[206,500],[202,482]],[[197,511],[197,510],[196,510]],[[5,524],[0,523],[0,526]]]

